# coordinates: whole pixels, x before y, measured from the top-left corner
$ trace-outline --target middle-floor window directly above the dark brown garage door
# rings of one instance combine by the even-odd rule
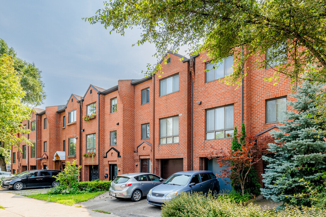
[[[160,144],[179,142],[179,116],[160,119]]]

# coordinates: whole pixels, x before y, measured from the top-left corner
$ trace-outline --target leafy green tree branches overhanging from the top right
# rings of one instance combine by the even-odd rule
[[[314,72],[312,79],[326,81],[325,17],[322,0],[111,0],[95,16],[83,19],[122,35],[127,28],[141,28],[141,39],[135,44],[154,43],[158,61],[167,50],[178,51],[184,45],[195,54],[208,51],[213,61],[234,53],[234,61],[240,64],[228,83],[237,84],[251,55],[258,55],[258,67],[274,68],[264,56],[271,47],[266,59],[278,65],[286,62],[272,78],[283,73],[298,81],[304,67],[315,63],[309,69]],[[243,59],[241,49],[235,49],[239,47],[244,47]],[[160,67],[148,66],[148,73]]]

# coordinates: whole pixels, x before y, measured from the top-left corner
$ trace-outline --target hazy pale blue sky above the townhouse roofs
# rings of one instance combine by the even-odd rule
[[[156,62],[154,45],[131,47],[140,30],[110,35],[81,19],[95,15],[101,0],[0,2],[0,38],[42,71],[47,98],[39,108],[66,104],[71,93],[83,96],[89,84],[107,89],[142,78],[146,63]]]

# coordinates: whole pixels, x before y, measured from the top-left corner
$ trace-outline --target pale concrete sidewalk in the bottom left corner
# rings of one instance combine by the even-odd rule
[[[116,215],[105,214],[87,210],[84,208],[66,206],[60,203],[46,202],[29,197],[23,197],[11,193],[0,192],[1,217],[38,217],[38,216],[60,216],[60,217],[114,217]],[[117,217],[117,216],[116,216]]]

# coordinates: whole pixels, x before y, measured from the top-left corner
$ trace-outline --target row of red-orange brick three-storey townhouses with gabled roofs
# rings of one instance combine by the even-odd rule
[[[289,79],[280,76],[277,85],[264,81],[274,69],[255,68],[254,56],[236,88],[219,82],[232,73],[232,56],[215,68],[207,53],[189,59],[168,54],[160,74],[119,80],[109,89],[90,85],[84,96],[71,94],[66,105],[35,108],[31,120],[22,122],[30,134],[20,135],[35,147],[22,143],[23,153],[12,149],[12,172],[63,170],[66,161],[76,160],[82,181],[140,171],[163,178],[181,170],[219,173],[207,155],[212,148],[230,149],[226,134],[234,126],[244,123],[247,135],[268,134],[284,118],[281,111],[290,109]],[[84,115],[91,117],[83,120]],[[83,156],[89,152],[96,154]],[[263,162],[255,168],[261,180]]]

